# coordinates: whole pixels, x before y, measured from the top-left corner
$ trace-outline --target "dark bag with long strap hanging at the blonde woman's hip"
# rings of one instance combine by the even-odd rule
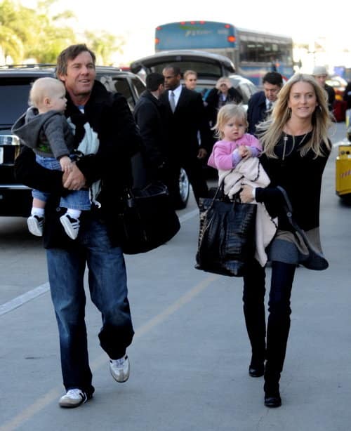
[[[277,186],[277,189],[282,192],[284,199],[285,199],[285,211],[286,211],[286,217],[289,220],[289,223],[295,230],[293,232],[294,234],[298,233],[300,234],[300,237],[303,239],[303,242],[305,243],[305,246],[308,250],[308,256],[305,260],[301,261],[301,265],[308,268],[309,270],[315,270],[315,271],[322,271],[326,270],[327,267],[329,267],[328,260],[324,258],[322,253],[317,251],[314,246],[311,244],[310,240],[308,239],[305,231],[301,229],[301,227],[296,223],[295,220],[293,220],[293,207],[291,205],[291,201],[288,197],[288,194],[286,193],[286,190],[284,190],[283,187]]]

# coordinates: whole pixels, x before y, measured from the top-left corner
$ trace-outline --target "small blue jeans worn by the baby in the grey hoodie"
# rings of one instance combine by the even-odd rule
[[[42,157],[37,155],[36,161],[44,168],[53,171],[62,171],[60,162],[55,157]],[[40,190],[32,190],[32,197],[46,202],[50,193],[41,192]],[[91,201],[89,198],[89,190],[72,190],[66,197],[61,197],[60,206],[62,208],[79,209],[81,211],[89,211],[91,209]]]

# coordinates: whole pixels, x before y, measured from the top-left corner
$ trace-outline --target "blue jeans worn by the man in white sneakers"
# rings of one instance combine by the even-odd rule
[[[88,267],[91,300],[101,312],[100,345],[112,359],[122,357],[133,339],[127,298],[126,265],[121,248],[113,247],[105,224],[84,220],[69,250],[48,248],[48,278],[58,321],[63,384],[93,394],[84,320],[84,272]]]

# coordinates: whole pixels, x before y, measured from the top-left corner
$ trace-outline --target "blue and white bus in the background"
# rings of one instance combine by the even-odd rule
[[[155,51],[197,49],[225,55],[236,72],[260,86],[265,73],[293,74],[293,41],[278,34],[241,29],[226,22],[181,21],[159,25]]]

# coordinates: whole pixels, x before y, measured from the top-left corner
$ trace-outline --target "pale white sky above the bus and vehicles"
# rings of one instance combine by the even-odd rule
[[[37,0],[20,0],[35,7]],[[89,3],[89,4],[88,4]],[[239,4],[238,4],[239,3]],[[351,1],[338,0],[336,8],[319,1],[178,0],[174,3],[152,0],[56,0],[53,11],[69,10],[77,15],[77,32],[106,30],[126,39],[120,63],[154,53],[154,27],[166,22],[188,20],[225,21],[246,29],[284,34],[295,41],[310,43],[326,37],[331,46],[343,45],[351,51],[349,18]]]

